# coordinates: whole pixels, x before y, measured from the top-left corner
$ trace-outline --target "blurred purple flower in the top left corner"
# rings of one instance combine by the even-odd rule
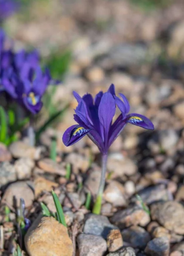
[[[18,10],[18,1],[0,0],[0,20],[7,18]]]

